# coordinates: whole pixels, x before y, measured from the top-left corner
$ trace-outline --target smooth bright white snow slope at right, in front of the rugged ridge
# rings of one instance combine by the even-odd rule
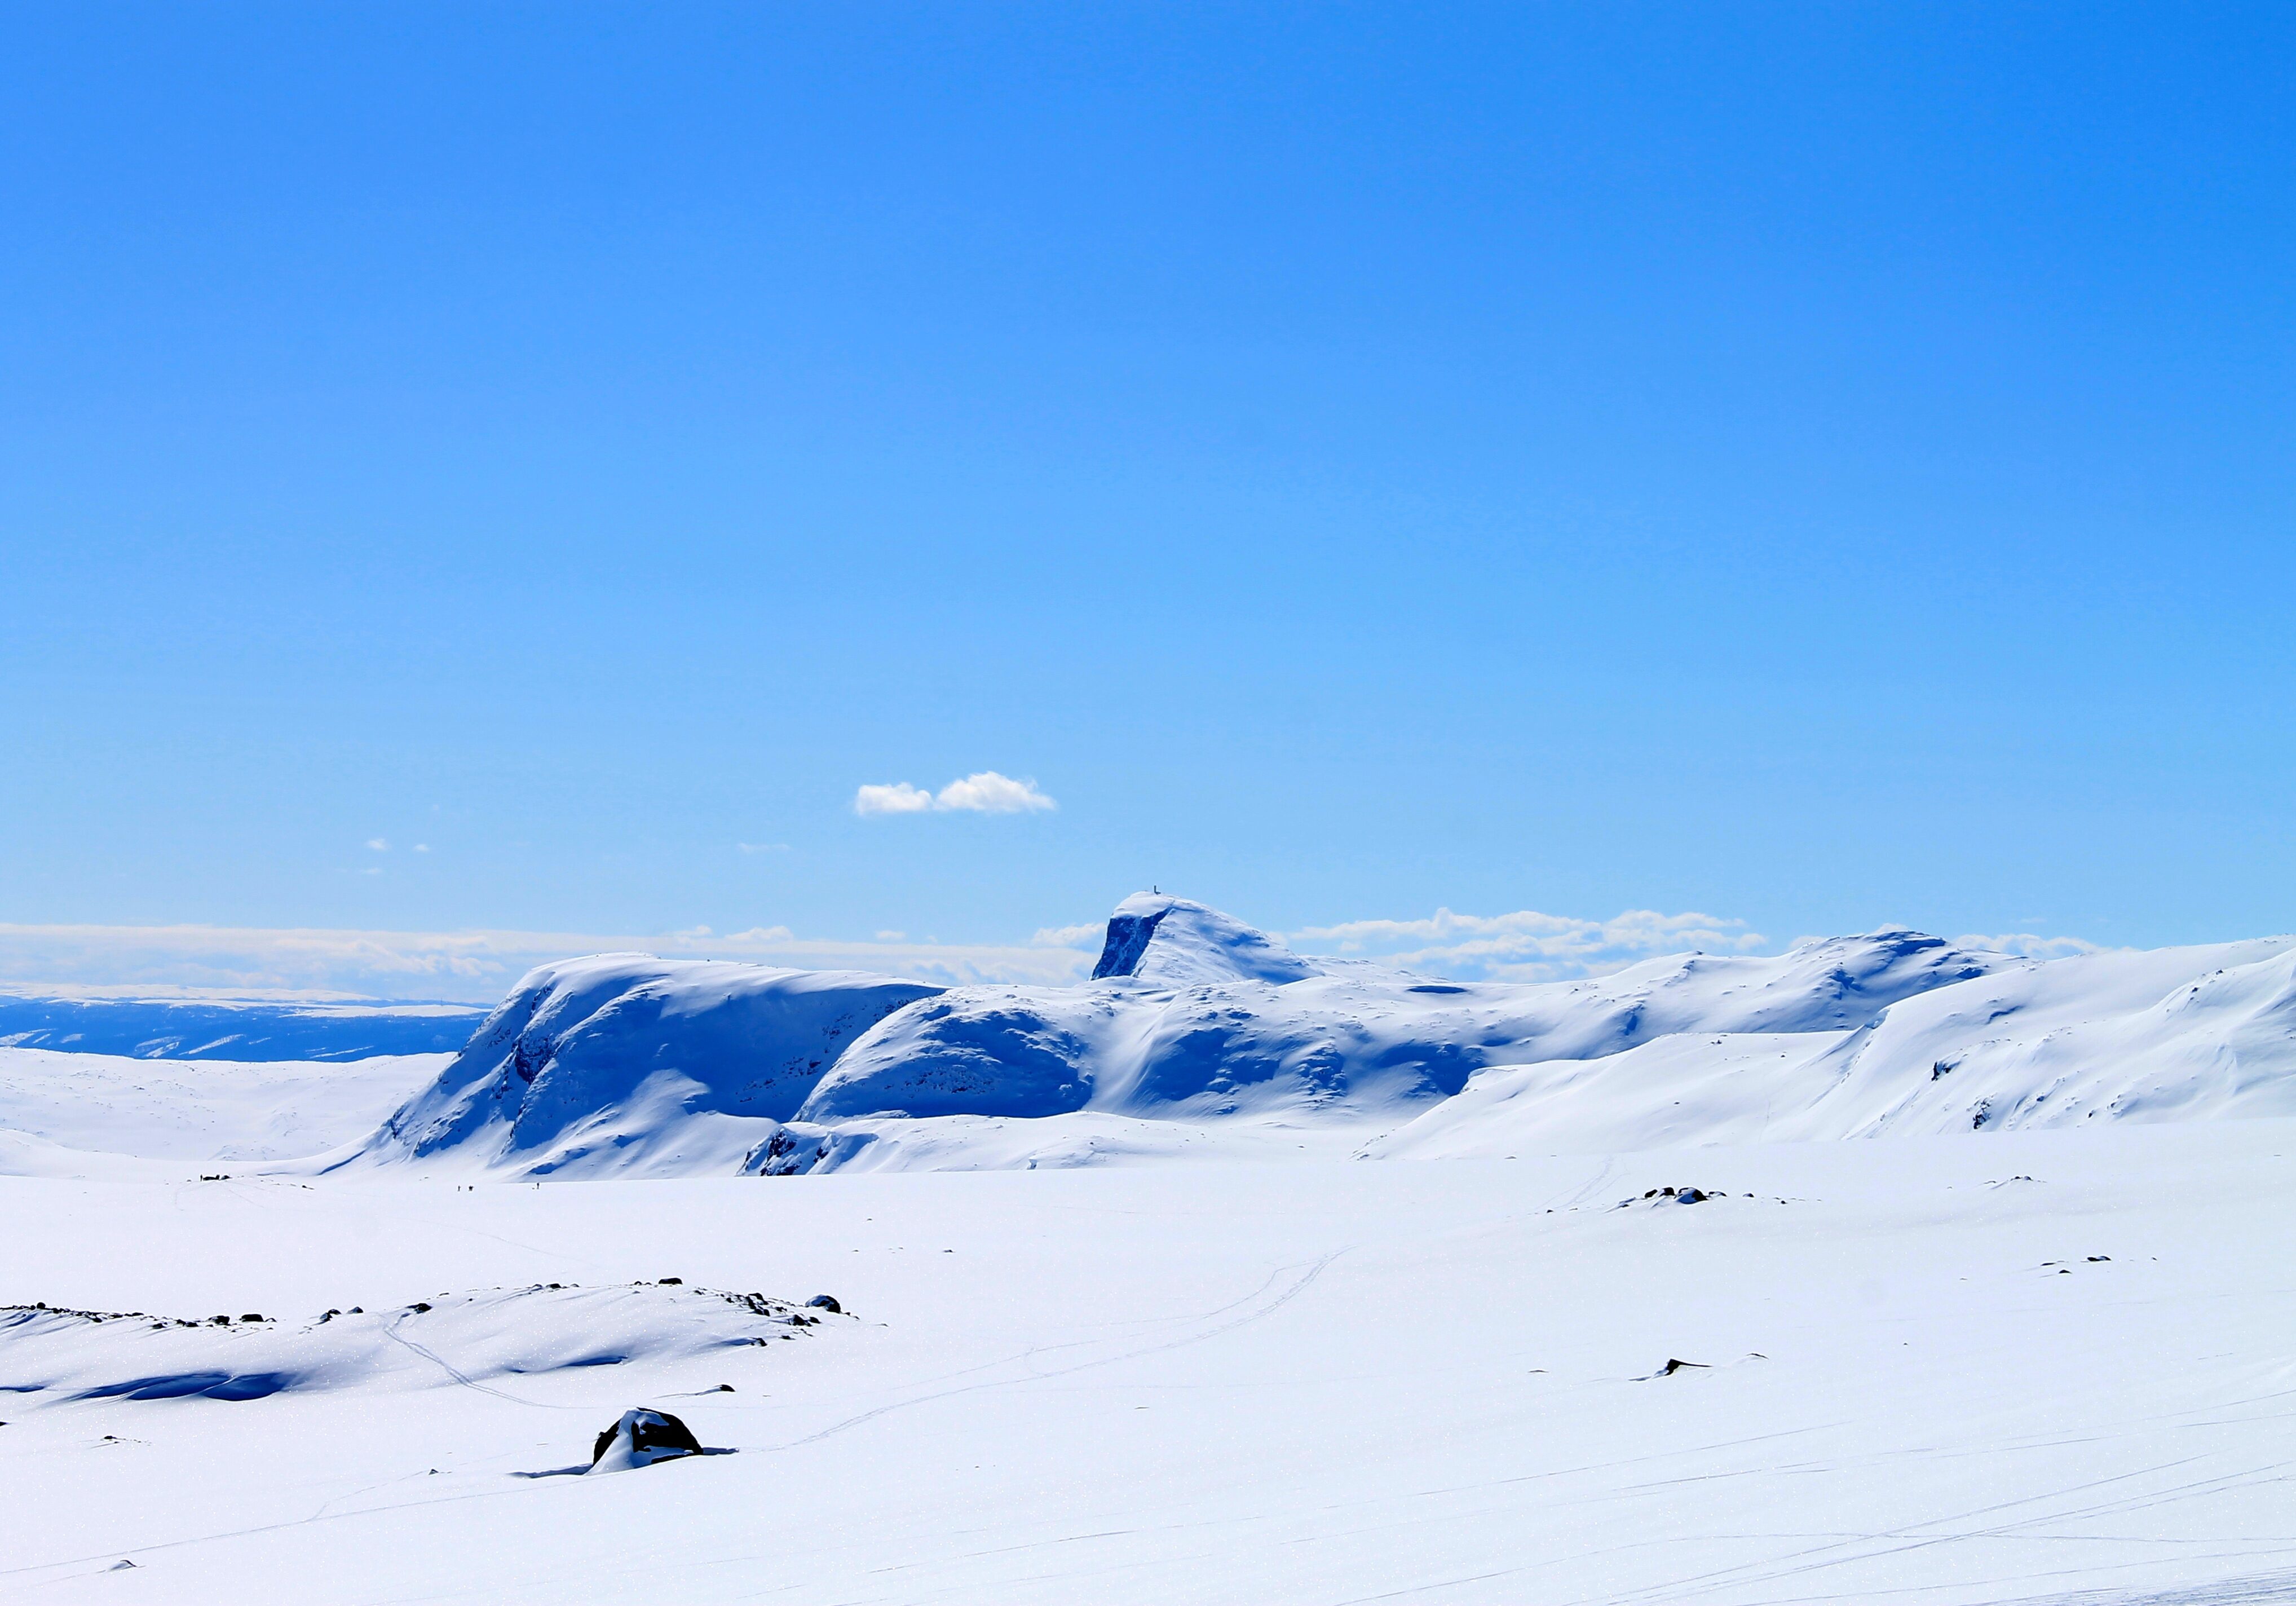
[[[1855,1032],[1678,1034],[1476,1075],[1373,1158],[2296,1114],[2296,940],[2018,965]]]

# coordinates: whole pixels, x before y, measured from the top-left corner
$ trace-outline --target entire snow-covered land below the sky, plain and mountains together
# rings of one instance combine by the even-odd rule
[[[0,1599],[2296,1599],[2296,940],[1095,970],[0,1045]]]

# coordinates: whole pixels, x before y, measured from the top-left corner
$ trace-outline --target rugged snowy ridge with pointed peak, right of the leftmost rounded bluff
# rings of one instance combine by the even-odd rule
[[[1130,974],[1081,988],[953,988],[900,1011],[854,1043],[799,1119],[1407,1119],[1492,1064],[1596,1059],[1683,1029],[1860,1027],[1896,999],[2025,965],[1876,931],[1779,958],[1649,960],[1598,981],[1446,983],[1302,960],[1201,905],[1155,903],[1169,912],[1146,942],[1139,924],[1157,914],[1146,898],[1109,924],[1102,965],[1130,960]],[[1286,979],[1261,979],[1270,972]]]

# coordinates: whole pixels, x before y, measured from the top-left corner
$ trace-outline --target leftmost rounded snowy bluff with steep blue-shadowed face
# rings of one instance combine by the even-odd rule
[[[939,988],[643,953],[530,972],[347,1163],[517,1174],[735,1169],[845,1048]]]

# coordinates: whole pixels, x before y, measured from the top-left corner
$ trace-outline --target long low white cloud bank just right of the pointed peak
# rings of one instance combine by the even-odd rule
[[[1743,919],[1626,910],[1612,919],[1577,919],[1515,910],[1511,914],[1453,914],[1426,919],[1359,919],[1288,933],[1295,947],[1336,944],[1339,953],[1382,958],[1405,970],[1490,981],[1557,981],[1600,976],[1653,953],[1750,953],[1768,937]]]

